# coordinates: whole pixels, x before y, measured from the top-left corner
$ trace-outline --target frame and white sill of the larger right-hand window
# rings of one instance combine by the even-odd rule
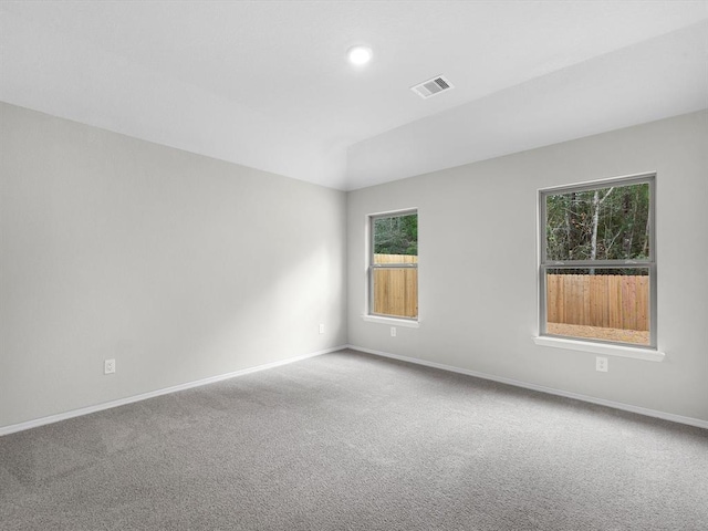
[[[643,260],[566,260],[546,259],[546,197],[551,195],[587,191],[610,186],[648,184],[649,186],[649,257]],[[656,174],[639,174],[611,179],[564,185],[538,190],[538,238],[539,238],[539,336],[534,342],[542,346],[585,351],[596,354],[617,355],[650,361],[663,361],[665,354],[657,347],[657,263],[656,263]],[[649,273],[649,345],[633,345],[590,337],[550,335],[546,332],[546,271],[549,269],[586,268],[646,268]]]

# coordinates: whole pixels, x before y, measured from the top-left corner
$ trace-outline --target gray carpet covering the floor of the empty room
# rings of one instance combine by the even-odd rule
[[[708,431],[352,351],[0,458],[4,531],[708,529]]]

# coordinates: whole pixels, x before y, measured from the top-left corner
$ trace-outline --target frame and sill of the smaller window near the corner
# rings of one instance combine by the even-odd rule
[[[416,301],[416,305],[418,306],[418,312],[417,312],[417,316],[415,317],[374,313],[374,271],[375,270],[377,269],[415,269],[419,271],[418,262],[416,263],[374,263],[374,221],[381,218],[394,218],[394,217],[403,217],[403,216],[410,216],[410,215],[415,215],[418,218],[418,221],[420,220],[420,216],[417,208],[406,208],[403,210],[376,212],[376,214],[369,214],[367,216],[366,313],[363,315],[364,321],[382,323],[382,324],[392,324],[397,326],[406,326],[406,327],[418,327],[420,323],[419,292],[418,292],[418,300]],[[418,260],[419,260],[419,257],[418,257]],[[420,277],[418,274],[418,288],[419,288],[419,282],[420,282]]]

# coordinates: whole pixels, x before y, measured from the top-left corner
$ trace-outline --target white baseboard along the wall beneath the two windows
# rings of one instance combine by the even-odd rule
[[[389,357],[392,360],[398,360],[400,362],[414,363],[416,365],[424,365],[426,367],[439,368],[441,371],[449,371],[451,373],[465,374],[467,376],[475,376],[477,378],[489,379],[492,382],[499,382],[500,384],[513,385],[516,387],[522,387],[524,389],[538,391],[540,393],[546,393],[549,395],[563,396],[565,398],[574,398],[576,400],[587,402],[591,404],[597,404],[600,406],[612,407],[614,409],[622,409],[624,412],[636,413],[645,415],[647,417],[660,418],[663,420],[670,420],[673,423],[686,424],[688,426],[695,426],[697,428],[708,429],[708,420],[701,420],[699,418],[684,417],[681,415],[675,415],[673,413],[658,412],[656,409],[648,409],[646,407],[633,406],[629,404],[623,404],[621,402],[606,400],[604,398],[595,398],[594,396],[581,395],[577,393],[571,393],[562,389],[554,389],[552,387],[544,387],[542,385],[529,384],[512,378],[504,378],[502,376],[494,376],[492,374],[480,373],[477,371],[469,371],[467,368],[455,367],[452,365],[444,365],[441,363],[428,362],[426,360],[419,360],[416,357],[400,356],[398,354],[392,354],[389,352],[374,351],[372,348],[364,348],[363,346],[347,345],[347,348],[353,351],[365,352],[367,354],[374,354],[376,356]]]

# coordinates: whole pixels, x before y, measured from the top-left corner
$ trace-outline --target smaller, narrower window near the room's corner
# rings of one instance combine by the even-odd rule
[[[368,313],[418,317],[418,214],[369,217]]]

